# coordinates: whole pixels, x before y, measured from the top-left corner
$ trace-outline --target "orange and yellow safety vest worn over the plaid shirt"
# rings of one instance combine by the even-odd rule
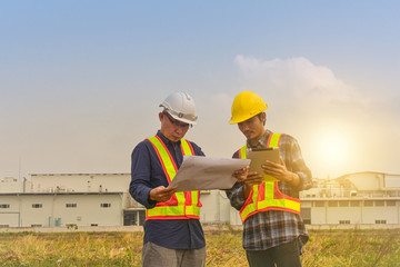
[[[267,147],[279,147],[281,134],[271,132]],[[247,158],[247,146],[239,150],[240,158]],[[278,180],[254,185],[243,207],[240,218],[244,222],[250,216],[267,210],[282,210],[300,215],[300,199],[284,195],[279,190]]]

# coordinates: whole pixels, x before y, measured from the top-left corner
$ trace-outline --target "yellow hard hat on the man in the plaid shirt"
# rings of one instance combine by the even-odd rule
[[[242,122],[266,109],[268,109],[268,105],[260,96],[252,91],[242,91],[233,99],[232,118],[229,120],[229,123]]]

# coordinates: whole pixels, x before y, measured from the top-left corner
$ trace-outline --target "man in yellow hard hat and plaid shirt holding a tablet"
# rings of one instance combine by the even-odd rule
[[[309,236],[300,217],[299,191],[312,186],[297,140],[264,128],[267,103],[252,91],[233,100],[230,123],[238,123],[247,139],[233,158],[247,158],[249,149],[279,147],[280,162],[266,160],[264,174],[237,171],[238,182],[227,190],[232,207],[243,221],[243,248],[251,267],[301,266],[300,254]],[[264,175],[273,180],[264,179]]]

